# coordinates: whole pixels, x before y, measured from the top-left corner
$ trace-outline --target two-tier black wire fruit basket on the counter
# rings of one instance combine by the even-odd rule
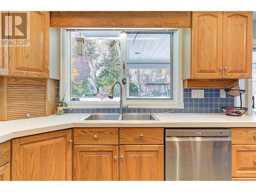
[[[222,106],[222,111],[229,116],[242,116],[244,115],[248,108],[242,108],[242,95],[245,93],[245,90],[240,89],[224,89],[224,91],[233,97],[240,96],[240,107],[239,106]]]

